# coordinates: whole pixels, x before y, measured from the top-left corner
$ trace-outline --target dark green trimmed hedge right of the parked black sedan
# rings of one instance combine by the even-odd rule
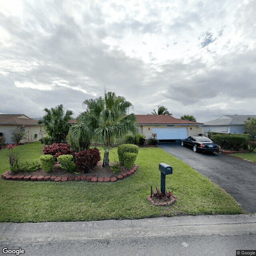
[[[222,148],[247,148],[248,136],[244,134],[212,134],[212,140]]]

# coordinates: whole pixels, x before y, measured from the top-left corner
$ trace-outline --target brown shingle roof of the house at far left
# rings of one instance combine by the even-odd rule
[[[37,121],[23,114],[0,114],[0,124],[36,125]]]

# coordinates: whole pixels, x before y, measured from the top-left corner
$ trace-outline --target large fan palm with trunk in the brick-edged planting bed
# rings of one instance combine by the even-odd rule
[[[105,91],[104,98],[84,100],[83,105],[86,111],[78,116],[77,124],[70,128],[70,145],[80,149],[81,141],[100,142],[105,151],[103,166],[109,166],[109,152],[116,139],[122,140],[127,133],[138,132],[136,116],[134,113],[128,114],[132,103],[114,92]]]

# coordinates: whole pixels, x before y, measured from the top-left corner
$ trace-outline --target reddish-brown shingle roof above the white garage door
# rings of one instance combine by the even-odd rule
[[[198,122],[182,120],[168,115],[135,115],[138,124],[202,124]]]

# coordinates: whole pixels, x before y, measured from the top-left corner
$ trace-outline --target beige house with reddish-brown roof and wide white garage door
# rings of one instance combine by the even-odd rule
[[[141,134],[150,138],[157,134],[158,140],[181,140],[202,134],[202,123],[182,120],[169,115],[136,115]]]

